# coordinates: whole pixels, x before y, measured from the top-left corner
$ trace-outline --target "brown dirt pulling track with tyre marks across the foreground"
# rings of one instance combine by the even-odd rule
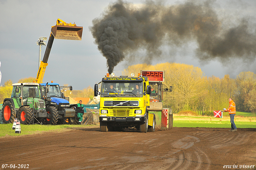
[[[79,127],[0,138],[0,166],[28,164],[30,170],[240,170],[244,168],[239,166],[249,165],[250,170],[256,169],[256,129],[172,128],[140,133]]]

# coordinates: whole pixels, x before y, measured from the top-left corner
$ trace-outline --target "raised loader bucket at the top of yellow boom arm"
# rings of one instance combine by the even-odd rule
[[[82,26],[56,25],[52,27],[52,35],[62,40],[82,40]]]

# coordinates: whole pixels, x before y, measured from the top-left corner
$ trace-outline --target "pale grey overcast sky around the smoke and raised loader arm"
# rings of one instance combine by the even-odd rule
[[[92,32],[92,20],[98,18],[107,9],[112,0],[1,0],[0,1],[0,71],[4,85],[7,80],[13,83],[21,78],[36,77],[38,72],[39,48],[36,42],[39,37],[50,36],[51,26],[56,25],[60,18],[67,23],[76,23],[83,26],[82,40],[58,40],[55,39],[48,59],[48,66],[44,74],[43,82],[53,80],[60,85],[72,85],[74,90],[82,90],[88,86],[93,87],[101,81],[108,72],[106,58],[102,56],[94,43]],[[141,6],[144,1],[128,0],[132,4]],[[166,6],[182,4],[186,1],[165,0]],[[204,1],[202,1],[204,2]],[[246,17],[252,35],[255,36],[256,25],[256,1],[255,0],[216,0],[212,2],[212,8],[218,14],[221,24],[225,27],[235,26],[241,18]],[[254,44],[255,45],[255,44]],[[172,50],[162,46],[162,57],[152,59],[151,64],[162,62],[177,62],[191,64],[200,67],[206,76],[222,78],[225,74],[236,78],[242,71],[256,71],[255,56],[250,61],[243,58],[200,61],[195,50],[198,48],[195,41],[182,44]],[[42,47],[41,60],[46,46]],[[140,54],[142,51],[138,52]],[[231,59],[231,60],[230,60]],[[129,65],[142,63],[142,61],[124,60],[115,68],[117,76]]]

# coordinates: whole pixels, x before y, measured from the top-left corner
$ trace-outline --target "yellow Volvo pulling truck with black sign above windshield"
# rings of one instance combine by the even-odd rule
[[[101,84],[100,89],[98,84]],[[100,131],[133,128],[154,132],[156,118],[148,113],[151,87],[146,76],[132,73],[116,77],[107,74],[94,85],[94,96],[100,95]]]

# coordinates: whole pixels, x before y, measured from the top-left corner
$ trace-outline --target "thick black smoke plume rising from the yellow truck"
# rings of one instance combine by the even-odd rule
[[[210,1],[173,6],[146,1],[137,7],[118,0],[92,23],[90,30],[107,59],[109,73],[138,49],[146,50],[146,60],[150,61],[161,55],[163,44],[180,46],[189,40],[196,40],[200,60],[230,57],[254,60],[256,55],[256,32],[248,28],[248,20],[225,29]]]

